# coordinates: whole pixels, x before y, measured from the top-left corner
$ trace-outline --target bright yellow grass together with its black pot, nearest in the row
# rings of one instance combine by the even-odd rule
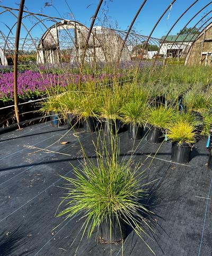
[[[195,128],[188,121],[176,122],[167,131],[167,138],[172,141],[171,160],[186,164],[190,160],[192,144],[196,142]]]

